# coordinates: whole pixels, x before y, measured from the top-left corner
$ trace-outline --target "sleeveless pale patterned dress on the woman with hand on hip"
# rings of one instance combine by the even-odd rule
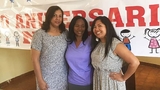
[[[114,38],[109,54],[105,57],[105,43],[99,43],[91,54],[94,67],[93,90],[126,90],[125,82],[112,80],[110,72],[120,72],[123,60],[114,55],[113,51],[120,42]]]

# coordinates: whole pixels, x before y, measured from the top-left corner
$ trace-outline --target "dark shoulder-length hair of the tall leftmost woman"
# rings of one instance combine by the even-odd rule
[[[59,25],[59,29],[61,30],[61,33],[66,30],[65,24],[63,22],[63,10],[59,6],[51,6],[47,10],[45,21],[43,22],[41,27],[43,30],[45,30],[45,32],[48,32],[48,30],[50,29],[51,20],[57,10],[61,10],[62,12],[62,23]]]

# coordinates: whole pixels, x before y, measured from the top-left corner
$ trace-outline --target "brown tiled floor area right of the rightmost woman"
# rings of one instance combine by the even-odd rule
[[[136,90],[160,90],[160,66],[141,63],[136,71]]]

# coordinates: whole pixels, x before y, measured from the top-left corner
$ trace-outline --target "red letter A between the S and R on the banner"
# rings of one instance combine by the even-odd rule
[[[114,15],[114,19],[113,19]],[[109,16],[108,18],[111,20],[111,22],[116,22],[116,27],[123,27],[124,23],[122,22],[121,15],[119,13],[118,8],[110,8]]]

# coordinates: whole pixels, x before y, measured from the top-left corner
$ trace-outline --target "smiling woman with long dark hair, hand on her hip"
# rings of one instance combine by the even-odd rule
[[[139,60],[120,41],[111,21],[97,17],[91,27],[93,90],[126,90],[125,81],[135,73]],[[128,63],[122,73],[123,62]]]

